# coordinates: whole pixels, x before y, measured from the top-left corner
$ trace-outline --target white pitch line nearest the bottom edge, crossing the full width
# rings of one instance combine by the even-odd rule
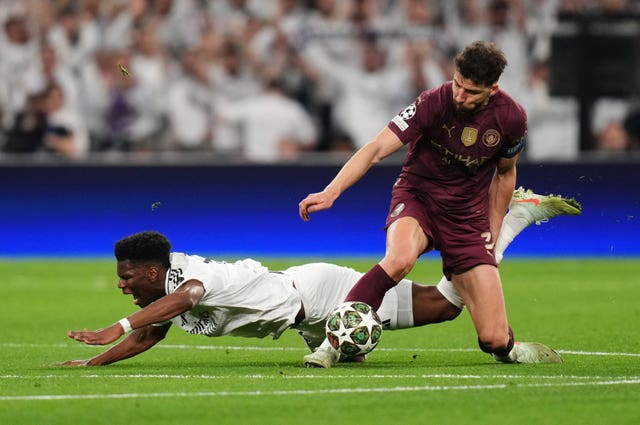
[[[385,388],[328,388],[322,390],[275,390],[275,391],[202,391],[175,393],[123,393],[123,394],[41,394],[25,396],[0,396],[0,401],[33,401],[33,400],[96,400],[96,399],[132,399],[132,398],[175,398],[175,397],[248,397],[248,396],[295,396],[337,393],[392,393],[421,391],[473,391],[492,389],[513,389],[533,387],[571,387],[587,385],[638,385],[640,379],[609,380],[593,382],[558,382],[544,384],[494,384],[494,385],[423,385],[410,387]]]

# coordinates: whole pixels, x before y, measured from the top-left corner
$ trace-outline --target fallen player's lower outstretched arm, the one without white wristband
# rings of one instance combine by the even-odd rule
[[[119,344],[114,345],[107,351],[86,360],[68,360],[57,363],[57,366],[105,366],[120,360],[136,356],[143,351],[156,345],[166,336],[171,322],[163,325],[148,325],[136,329]],[[71,332],[69,332],[71,333]],[[71,336],[71,335],[69,335]]]

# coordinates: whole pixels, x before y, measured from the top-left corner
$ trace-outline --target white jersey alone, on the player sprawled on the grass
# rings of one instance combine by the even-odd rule
[[[300,311],[302,301],[292,278],[269,272],[257,261],[225,263],[178,252],[170,261],[167,294],[189,280],[204,286],[198,305],[171,319],[189,333],[275,339],[293,325]]]

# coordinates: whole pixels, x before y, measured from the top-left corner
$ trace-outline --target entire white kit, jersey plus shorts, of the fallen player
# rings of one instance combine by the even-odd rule
[[[325,338],[327,315],[362,276],[348,267],[327,263],[272,272],[252,259],[226,263],[175,252],[170,261],[167,294],[189,280],[202,282],[205,289],[198,305],[171,319],[186,332],[254,338],[271,335],[276,339],[295,327],[311,349]],[[378,309],[386,329],[413,326],[411,285],[403,279],[386,293]],[[295,324],[301,307],[304,319]]]

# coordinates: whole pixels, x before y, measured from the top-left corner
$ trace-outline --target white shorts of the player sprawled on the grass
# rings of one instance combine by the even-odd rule
[[[364,273],[328,263],[311,263],[284,270],[293,278],[305,310],[305,319],[295,329],[311,350],[325,338],[325,321]],[[401,280],[388,291],[377,310],[385,329],[413,326],[412,282]]]

